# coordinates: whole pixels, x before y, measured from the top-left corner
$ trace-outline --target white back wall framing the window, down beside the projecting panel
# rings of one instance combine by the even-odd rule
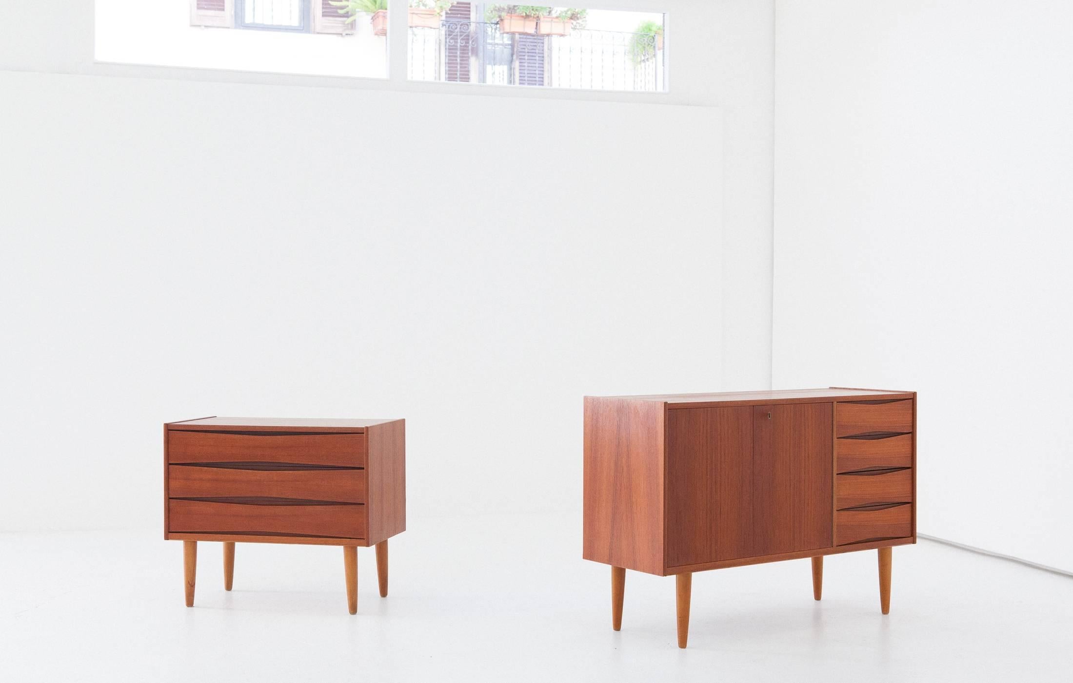
[[[406,0],[389,0],[402,11]],[[0,3],[0,71],[83,73],[220,83],[303,85],[340,89],[451,92],[469,96],[543,99],[530,88],[409,83],[401,66],[389,80],[285,76],[192,69],[130,66],[93,61],[92,2]],[[667,13],[668,92],[557,91],[556,99],[718,106],[721,160],[722,309],[724,365],[712,389],[770,386],[773,130],[775,0],[587,0],[590,8]],[[406,27],[389,28],[392,59],[406,61]]]

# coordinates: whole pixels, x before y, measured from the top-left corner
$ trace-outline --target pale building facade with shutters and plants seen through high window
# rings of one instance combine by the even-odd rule
[[[387,78],[388,0],[94,0],[100,61]],[[405,8],[405,9],[403,9]],[[410,80],[666,91],[665,15],[409,0]],[[402,35],[402,32],[399,32]]]

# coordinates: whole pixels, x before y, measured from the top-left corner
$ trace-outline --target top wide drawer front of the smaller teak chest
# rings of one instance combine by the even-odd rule
[[[286,462],[365,466],[365,434],[167,432],[168,462]]]

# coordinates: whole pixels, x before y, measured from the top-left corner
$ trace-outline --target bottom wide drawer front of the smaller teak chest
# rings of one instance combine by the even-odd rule
[[[256,500],[256,499],[254,499]],[[263,500],[263,499],[262,499]],[[175,533],[364,538],[364,505],[168,501]]]

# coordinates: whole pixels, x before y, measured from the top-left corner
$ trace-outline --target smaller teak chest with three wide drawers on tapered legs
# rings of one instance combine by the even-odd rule
[[[164,538],[181,539],[187,607],[199,540],[343,547],[357,612],[357,547],[377,547],[387,595],[387,539],[406,530],[406,421],[206,417],[164,425]]]

